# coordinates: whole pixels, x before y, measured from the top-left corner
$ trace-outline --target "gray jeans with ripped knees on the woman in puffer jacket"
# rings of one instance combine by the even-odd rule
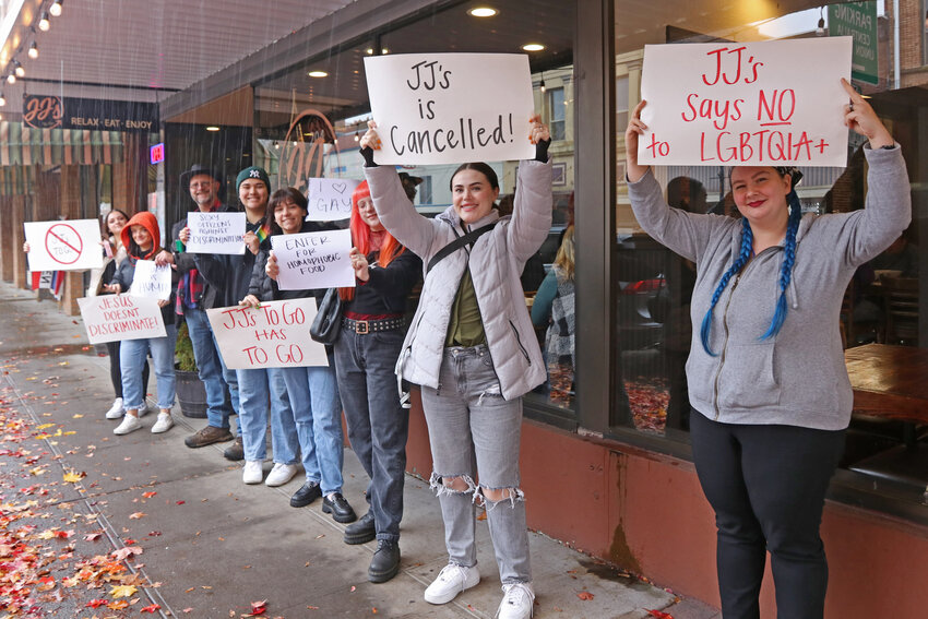
[[[455,346],[444,349],[439,389],[423,386],[423,408],[449,561],[467,568],[477,563],[474,503],[480,502],[487,508],[500,581],[531,582],[525,502],[519,489],[522,398],[502,398],[485,345]],[[467,489],[449,488],[443,479],[451,477]],[[489,490],[510,490],[510,498],[493,502],[484,496]]]

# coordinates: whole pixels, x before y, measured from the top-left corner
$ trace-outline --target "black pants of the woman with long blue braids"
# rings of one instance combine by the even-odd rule
[[[730,425],[690,415],[693,462],[718,528],[725,619],[758,619],[770,551],[782,619],[821,619],[828,562],[819,537],[825,490],[844,430]]]

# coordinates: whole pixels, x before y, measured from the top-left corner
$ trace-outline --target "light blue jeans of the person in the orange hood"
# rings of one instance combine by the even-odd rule
[[[119,346],[119,369],[122,372],[122,403],[127,410],[142,407],[145,393],[142,389],[142,367],[152,354],[155,378],[158,382],[158,408],[170,410],[174,406],[176,379],[174,374],[174,345],[177,326],[166,324],[164,337],[124,340]]]

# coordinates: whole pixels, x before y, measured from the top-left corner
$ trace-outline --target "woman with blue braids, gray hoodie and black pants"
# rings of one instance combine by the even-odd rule
[[[795,168],[736,167],[741,219],[670,209],[638,163],[645,102],[626,130],[629,198],[642,228],[697,263],[687,362],[693,462],[715,510],[725,619],[760,617],[771,555],[780,617],[821,618],[828,563],[819,536],[844,449],[852,390],[838,310],[855,270],[912,217],[902,152],[842,80],[847,127],[868,139],[866,209],[801,215]]]

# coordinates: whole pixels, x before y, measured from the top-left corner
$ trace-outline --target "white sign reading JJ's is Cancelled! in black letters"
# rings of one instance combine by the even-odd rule
[[[524,53],[365,58],[378,164],[531,159],[532,74]],[[479,84],[490,86],[489,90]]]

